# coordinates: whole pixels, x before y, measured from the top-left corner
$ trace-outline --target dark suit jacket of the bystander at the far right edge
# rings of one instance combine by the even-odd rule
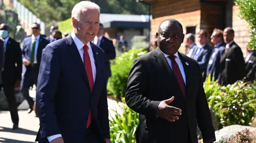
[[[249,60],[245,63],[246,81],[253,82],[256,74],[256,53],[254,52]]]

